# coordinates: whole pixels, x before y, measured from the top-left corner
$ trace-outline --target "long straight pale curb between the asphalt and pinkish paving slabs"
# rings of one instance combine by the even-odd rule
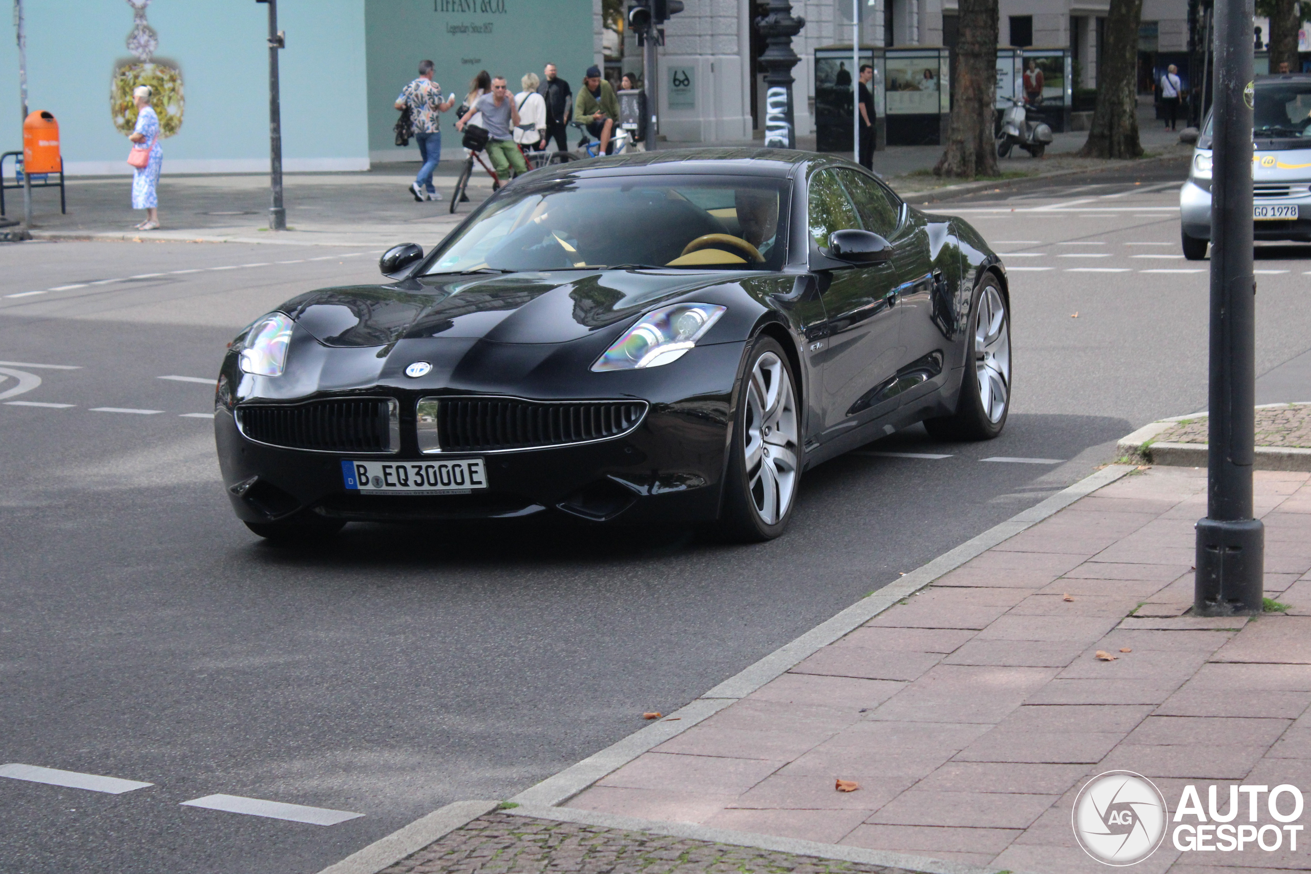
[[[867,598],[857,601],[838,615],[827,619],[800,638],[783,644],[755,664],[729,677],[700,698],[692,701],[665,719],[641,728],[616,744],[583,759],[576,765],[548,777],[536,786],[526,789],[510,801],[519,804],[555,807],[562,804],[606,774],[617,770],[644,752],[680,735],[696,723],[745,698],[775,677],[800,664],[815,651],[829,646],[844,634],[860,627],[877,614],[914,594],[948,571],[956,570],[971,558],[992,549],[1020,531],[1037,525],[1061,509],[1089,495],[1103,486],[1113,483],[1129,471],[1133,465],[1110,465],[1074,486],[1057,492],[1042,503],[1012,516],[1007,521],[990,528],[978,537],[944,552],[895,583],[889,583]]]

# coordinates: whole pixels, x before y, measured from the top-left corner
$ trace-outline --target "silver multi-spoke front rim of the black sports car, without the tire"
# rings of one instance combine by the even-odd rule
[[[751,503],[766,525],[777,525],[797,486],[797,406],[792,375],[773,352],[751,367],[746,391],[743,458]]]

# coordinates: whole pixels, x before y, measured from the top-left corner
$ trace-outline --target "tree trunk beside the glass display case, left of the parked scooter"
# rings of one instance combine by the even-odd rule
[[[960,0],[956,43],[956,79],[952,81],[952,119],[937,176],[996,176],[996,139],[992,135],[996,104],[998,0]]]

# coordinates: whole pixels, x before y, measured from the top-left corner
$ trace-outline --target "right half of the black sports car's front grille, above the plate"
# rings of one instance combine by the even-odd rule
[[[418,402],[418,446],[423,453],[569,446],[627,434],[645,415],[642,400],[423,398]]]

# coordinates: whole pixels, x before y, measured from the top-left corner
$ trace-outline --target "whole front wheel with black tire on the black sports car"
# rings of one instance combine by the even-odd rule
[[[722,533],[759,543],[783,534],[801,486],[801,404],[777,340],[747,349],[724,480]]]

